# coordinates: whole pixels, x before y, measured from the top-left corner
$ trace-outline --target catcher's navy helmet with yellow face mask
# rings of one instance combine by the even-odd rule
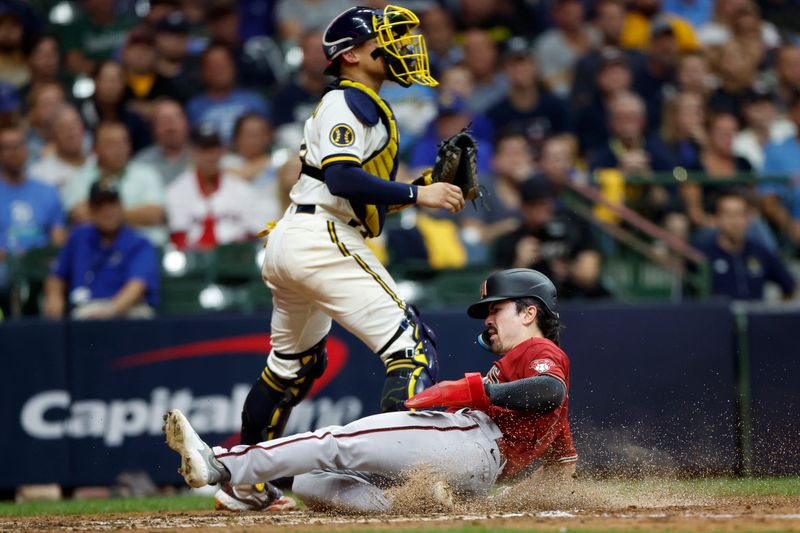
[[[387,77],[403,87],[412,83],[436,87],[430,73],[425,37],[414,30],[419,18],[410,10],[398,6],[383,9],[352,7],[337,16],[325,29],[322,49],[328,59],[325,74],[338,75],[338,57],[370,39],[377,48],[372,57],[383,56]]]

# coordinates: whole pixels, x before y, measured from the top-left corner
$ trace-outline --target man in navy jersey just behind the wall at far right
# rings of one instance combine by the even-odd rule
[[[789,299],[796,282],[780,258],[757,240],[747,236],[750,205],[736,190],[721,191],[716,201],[716,235],[695,246],[705,254],[711,267],[713,294],[735,300],[761,300],[764,284],[777,283]]]

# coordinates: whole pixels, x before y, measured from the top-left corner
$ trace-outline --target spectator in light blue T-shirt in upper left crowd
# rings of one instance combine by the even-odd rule
[[[193,126],[210,125],[227,144],[240,116],[257,113],[267,117],[267,103],[261,96],[236,88],[236,66],[226,46],[212,43],[203,52],[202,77],[205,92],[192,98],[186,108]]]

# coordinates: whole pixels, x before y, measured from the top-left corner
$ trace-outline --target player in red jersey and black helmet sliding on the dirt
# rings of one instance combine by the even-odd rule
[[[308,505],[362,512],[390,509],[386,483],[423,464],[465,496],[485,495],[496,480],[518,475],[537,459],[570,477],[577,461],[567,419],[570,363],[558,345],[552,282],[535,270],[495,273],[467,313],[483,319],[481,342],[500,359],[483,377],[466,374],[406,402],[448,411],[382,413],[343,427],[212,449],[172,410],[164,432],[181,456],[179,472],[192,487],[294,476],[293,490]]]

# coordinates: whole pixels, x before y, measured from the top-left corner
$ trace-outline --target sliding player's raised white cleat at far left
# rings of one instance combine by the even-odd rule
[[[162,429],[167,445],[180,454],[181,467],[178,473],[190,487],[225,483],[231,478],[225,465],[214,457],[214,452],[203,442],[179,409],[167,412],[164,420],[166,423]]]

